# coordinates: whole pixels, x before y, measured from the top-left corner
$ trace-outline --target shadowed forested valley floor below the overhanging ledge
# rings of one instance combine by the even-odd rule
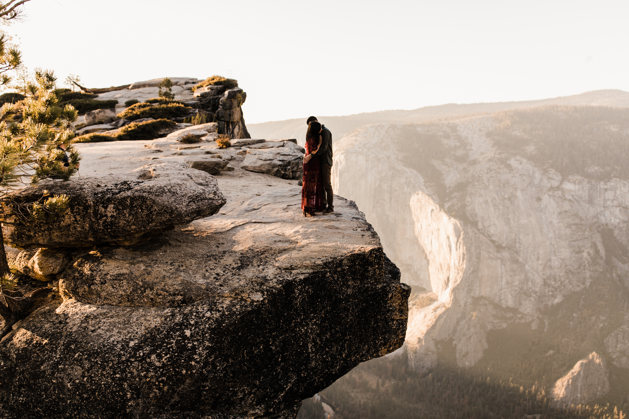
[[[418,374],[406,363],[405,354],[363,362],[320,394],[335,409],[335,419],[507,419],[538,414],[540,419],[621,419],[629,410],[629,403],[563,410],[550,405],[548,389],[539,384],[525,388],[513,379],[494,381],[447,367]],[[308,399],[298,418],[317,416],[323,417],[320,404]]]

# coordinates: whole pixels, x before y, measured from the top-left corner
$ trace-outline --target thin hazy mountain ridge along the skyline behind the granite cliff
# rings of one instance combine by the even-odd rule
[[[551,104],[627,108],[629,107],[629,92],[607,89],[575,94],[573,96],[562,96],[560,98],[541,99],[538,101],[471,104],[448,103],[438,106],[426,106],[411,111],[398,110],[359,113],[347,116],[316,116],[320,119],[321,123],[330,128],[333,139],[340,140],[345,134],[355,130],[359,126],[372,123],[418,123],[447,118],[448,116],[492,113],[517,108],[535,108],[537,106]],[[306,118],[308,118],[308,116],[309,115],[304,115],[303,118],[292,120],[247,124],[247,129],[252,138],[297,138],[298,141],[303,144],[305,142],[304,135],[306,135]]]

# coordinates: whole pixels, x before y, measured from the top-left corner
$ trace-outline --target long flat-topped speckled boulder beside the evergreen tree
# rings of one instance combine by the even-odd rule
[[[43,191],[68,195],[68,210],[48,223],[9,218],[15,224],[3,225],[5,243],[21,248],[130,245],[174,225],[213,215],[225,204],[213,176],[176,162],[147,164],[126,175],[40,182],[13,199],[35,202]]]

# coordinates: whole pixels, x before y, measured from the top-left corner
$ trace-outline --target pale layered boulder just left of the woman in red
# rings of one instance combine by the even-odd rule
[[[245,170],[267,173],[282,179],[303,177],[304,149],[291,141],[264,142],[247,146],[242,162]]]

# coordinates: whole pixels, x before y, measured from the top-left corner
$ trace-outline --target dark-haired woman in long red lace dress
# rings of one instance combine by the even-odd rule
[[[306,132],[306,155],[316,152],[321,147],[321,124],[312,121]],[[304,156],[305,157],[305,156]],[[316,211],[325,210],[323,205],[323,179],[321,178],[321,160],[316,154],[304,163],[304,179],[301,187],[301,210],[304,216],[315,216]]]

